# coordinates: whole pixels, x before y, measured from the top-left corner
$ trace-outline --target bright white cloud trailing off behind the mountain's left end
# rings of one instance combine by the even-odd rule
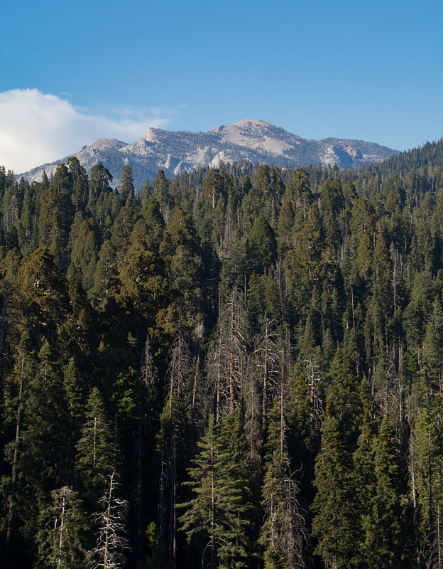
[[[37,89],[1,92],[0,165],[18,174],[64,158],[99,138],[133,142],[148,127],[165,127],[179,108],[108,107],[94,113]]]

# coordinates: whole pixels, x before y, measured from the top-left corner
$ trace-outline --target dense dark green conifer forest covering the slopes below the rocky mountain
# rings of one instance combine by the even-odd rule
[[[442,568],[442,156],[1,169],[1,567]]]

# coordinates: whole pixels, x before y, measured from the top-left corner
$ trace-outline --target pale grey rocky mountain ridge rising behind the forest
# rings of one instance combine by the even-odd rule
[[[118,184],[121,167],[132,166],[136,187],[146,176],[151,181],[159,169],[172,177],[199,166],[218,166],[221,162],[242,159],[280,166],[337,164],[340,168],[363,166],[398,154],[398,151],[373,142],[327,138],[302,139],[263,120],[244,119],[222,125],[209,132],[170,132],[149,128],[146,137],[131,144],[116,139],[99,139],[84,146],[75,156],[90,172],[97,162],[109,169]],[[60,161],[43,164],[23,173],[29,181],[39,180],[45,169],[50,176]]]

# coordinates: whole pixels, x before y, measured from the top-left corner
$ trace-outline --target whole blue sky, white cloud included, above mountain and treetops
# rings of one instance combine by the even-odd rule
[[[398,150],[443,135],[441,0],[9,1],[0,164],[246,117]]]

